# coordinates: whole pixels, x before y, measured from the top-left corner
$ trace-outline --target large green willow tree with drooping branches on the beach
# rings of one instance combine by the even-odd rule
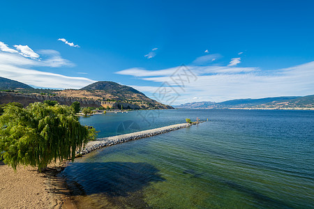
[[[95,129],[80,125],[65,105],[7,105],[0,116],[0,153],[13,169],[24,164],[42,171],[52,161],[74,160],[76,150],[95,137]]]

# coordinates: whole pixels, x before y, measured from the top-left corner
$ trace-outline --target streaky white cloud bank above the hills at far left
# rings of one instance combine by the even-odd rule
[[[3,43],[3,42],[2,42]],[[3,45],[5,45],[3,43]],[[3,46],[1,45],[1,46]],[[7,45],[5,45],[8,47]],[[54,72],[35,70],[36,67],[72,67],[74,63],[63,59],[59,52],[52,49],[39,50],[37,53],[18,45],[20,53],[0,48],[0,76],[14,79],[41,88],[82,88],[94,81],[85,77],[69,77]],[[10,48],[9,48],[10,49]],[[22,54],[22,52],[24,54]],[[37,54],[38,56],[32,54]],[[29,54],[27,54],[29,53]],[[27,56],[23,56],[27,54]],[[38,59],[38,58],[41,59]],[[35,59],[34,59],[35,58]],[[47,70],[47,69],[46,69]]]

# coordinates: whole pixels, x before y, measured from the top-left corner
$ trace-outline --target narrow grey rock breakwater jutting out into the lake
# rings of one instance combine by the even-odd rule
[[[142,139],[145,137],[152,137],[158,134],[163,134],[165,132],[171,132],[173,130],[178,130],[180,128],[189,127],[191,124],[189,123],[180,123],[175,125],[169,125],[165,127],[158,127],[151,130],[144,130],[141,132],[134,132],[130,134],[122,134],[119,136],[114,137],[106,137],[106,138],[100,138],[96,141],[89,141],[87,143],[87,146],[85,146],[84,149],[81,151],[77,151],[77,155],[85,155],[87,153],[90,153],[91,151],[97,150],[99,148],[103,148],[105,146],[112,146],[115,144],[121,144],[126,141],[132,141],[136,139]]]

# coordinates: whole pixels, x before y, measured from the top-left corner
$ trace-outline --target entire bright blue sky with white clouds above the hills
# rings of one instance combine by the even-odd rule
[[[3,1],[0,77],[165,104],[314,94],[314,1]]]

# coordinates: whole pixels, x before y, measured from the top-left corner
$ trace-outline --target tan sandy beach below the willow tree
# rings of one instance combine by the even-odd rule
[[[57,173],[62,166],[50,165],[38,173],[33,167],[11,167],[0,162],[0,208],[75,208],[69,191]]]

